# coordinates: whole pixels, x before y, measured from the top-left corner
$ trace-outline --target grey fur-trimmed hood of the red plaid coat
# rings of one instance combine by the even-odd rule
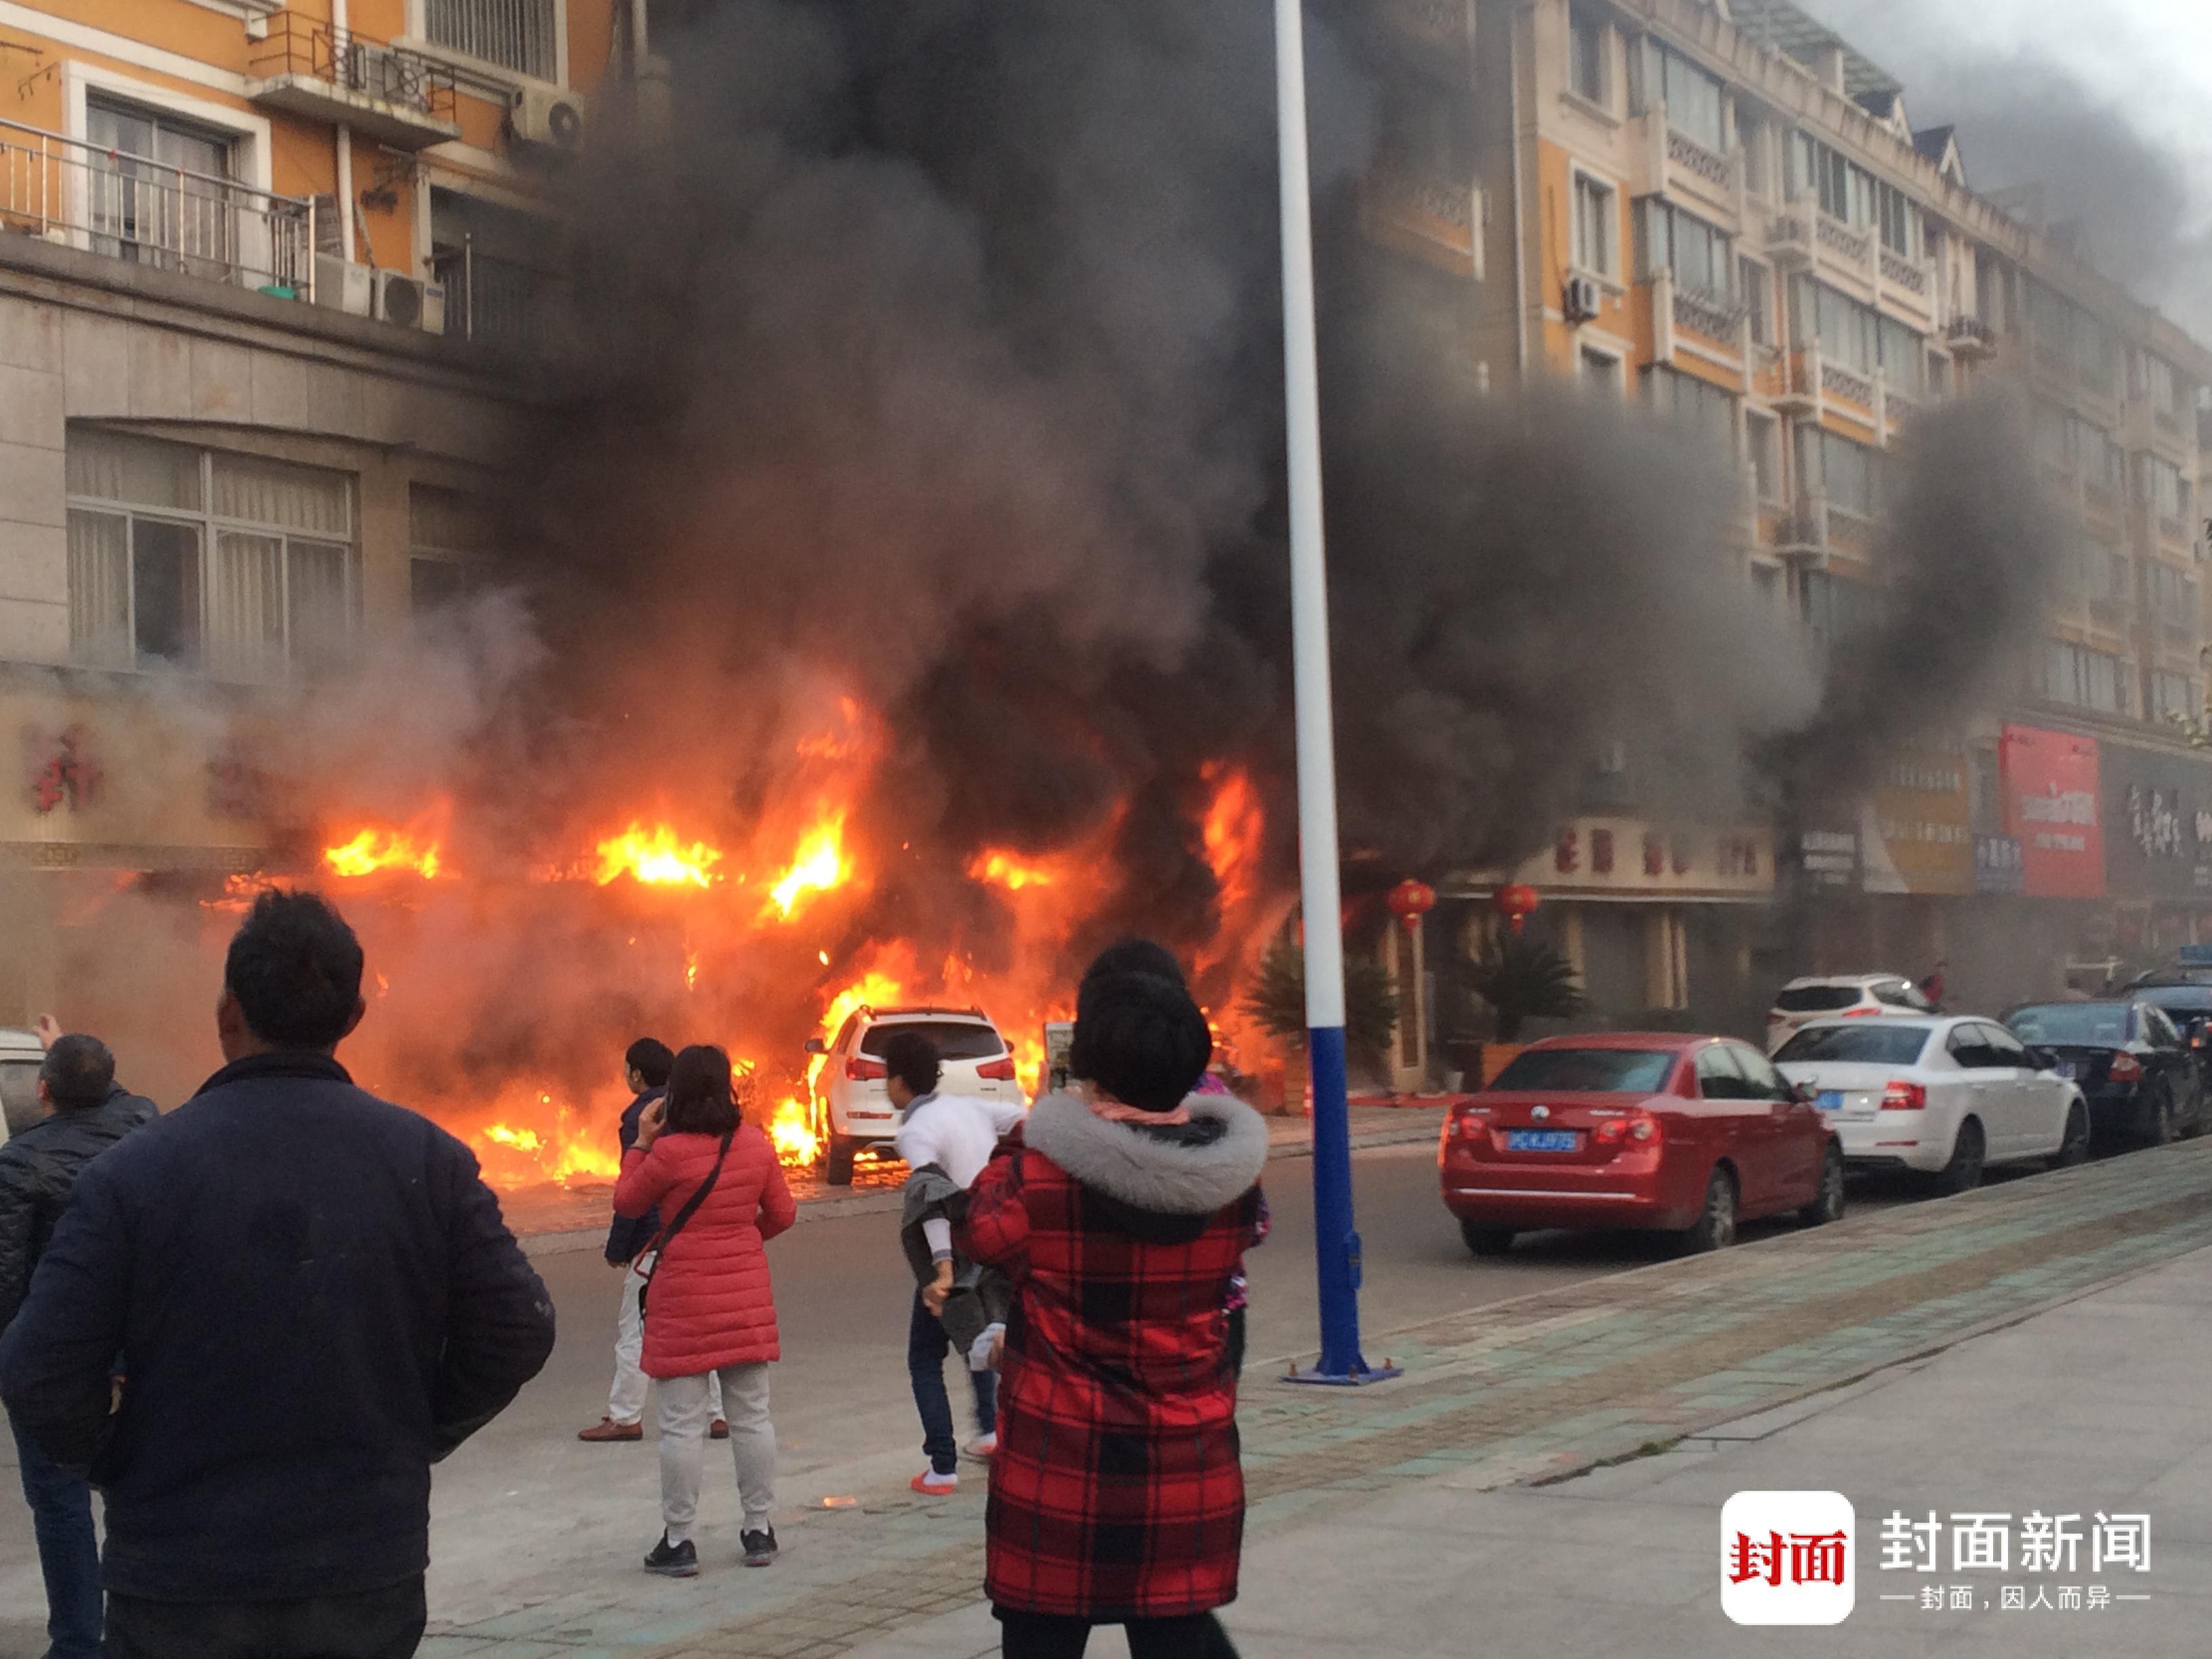
[[[1183,1102],[1199,1133],[1161,1133],[1099,1117],[1073,1095],[1046,1095],[1022,1139],[1133,1210],[1210,1217],[1250,1192],[1267,1166],[1267,1124],[1234,1095]]]

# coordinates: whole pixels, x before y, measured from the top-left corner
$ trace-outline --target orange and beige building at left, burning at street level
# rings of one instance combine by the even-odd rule
[[[0,1022],[270,858],[254,721],[465,591],[644,0],[0,0]]]

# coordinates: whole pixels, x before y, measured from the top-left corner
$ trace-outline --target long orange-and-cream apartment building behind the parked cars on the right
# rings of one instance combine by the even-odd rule
[[[2212,938],[2197,498],[2212,352],[2095,250],[1978,192],[1973,133],[1916,126],[1909,91],[1790,0],[1371,0],[1367,15],[1396,42],[1376,62],[1429,64],[1394,80],[1367,184],[1380,210],[1363,206],[1376,259],[1449,283],[1425,361],[1493,392],[1573,380],[1699,431],[1743,480],[1714,555],[1812,648],[1889,602],[1876,524],[1893,458],[1944,398],[1986,383],[2026,398],[2070,540],[2008,703],[1931,728],[1865,799],[1829,803],[1794,869],[1745,874],[1772,843],[1736,823],[1644,856],[1659,830],[1635,814],[1628,757],[1593,770],[1590,812],[1553,854],[1453,878],[1458,925],[1482,925],[1495,880],[1551,894],[1553,936],[1615,1018],[1741,1013],[1774,971],[1924,971],[1947,953],[1969,982],[2013,984],[2020,951],[1971,962],[1997,900],[2048,931],[2033,975],[2044,956]],[[2039,768],[2062,748],[2088,757],[2066,794],[2099,803],[2099,834],[2053,852],[2022,812],[2059,783]],[[1776,876],[1818,898],[1814,960],[1761,956]]]

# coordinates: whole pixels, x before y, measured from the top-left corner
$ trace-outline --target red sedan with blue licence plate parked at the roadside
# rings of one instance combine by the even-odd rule
[[[1747,1042],[1546,1037],[1455,1108],[1438,1146],[1467,1248],[1537,1228],[1648,1228],[1721,1250],[1736,1223],[1843,1214],[1843,1146]]]

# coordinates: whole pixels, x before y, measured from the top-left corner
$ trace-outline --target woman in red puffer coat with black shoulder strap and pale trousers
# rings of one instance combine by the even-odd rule
[[[712,1186],[690,1217],[708,1179]],[[799,1219],[783,1166],[768,1135],[739,1121],[730,1088],[730,1055],[686,1048],[668,1073],[668,1097],[637,1121],[637,1146],[622,1155],[615,1214],[659,1208],[668,1221],[655,1239],[646,1285],[646,1376],[659,1383],[661,1542],[646,1571],[697,1577],[692,1520],[699,1513],[699,1467],[706,1455],[708,1376],[721,1376],[721,1405],[737,1460],[737,1495],[745,1517],[739,1542],[745,1566],[776,1559],[776,1429],[768,1420],[768,1367],[781,1358],[776,1296],[768,1283],[763,1241]]]

